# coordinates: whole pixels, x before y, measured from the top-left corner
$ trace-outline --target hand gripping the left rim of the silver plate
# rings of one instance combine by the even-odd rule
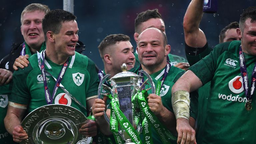
[[[25,139],[28,139],[28,135],[23,130],[22,126],[14,127],[14,130],[12,132],[12,137],[13,137],[13,141],[15,141],[15,142],[21,142]]]

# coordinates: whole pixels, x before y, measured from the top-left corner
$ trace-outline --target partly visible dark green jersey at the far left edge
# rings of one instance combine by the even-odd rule
[[[12,144],[13,142],[12,135],[7,132],[4,126],[4,118],[7,113],[8,107],[8,97],[11,94],[11,85],[10,82],[7,85],[0,86],[0,143],[1,144]]]

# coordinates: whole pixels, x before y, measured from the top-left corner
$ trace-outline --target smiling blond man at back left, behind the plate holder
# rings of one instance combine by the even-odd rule
[[[32,3],[24,8],[21,13],[21,34],[23,43],[12,44],[11,52],[0,62],[0,68],[14,71],[13,64],[19,56],[30,57],[36,51],[43,50],[42,43],[45,41],[42,29],[42,19],[50,9],[47,5]],[[15,70],[18,68],[15,66]]]

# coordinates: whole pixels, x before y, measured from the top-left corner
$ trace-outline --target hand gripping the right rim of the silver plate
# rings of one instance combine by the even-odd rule
[[[94,120],[90,120],[86,124],[82,125],[79,129],[79,133],[86,137],[93,137],[97,135],[97,125]]]

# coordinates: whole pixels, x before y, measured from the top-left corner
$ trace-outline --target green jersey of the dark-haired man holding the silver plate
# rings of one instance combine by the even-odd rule
[[[42,52],[41,52],[42,55]],[[38,66],[37,55],[29,58],[30,64],[24,69],[19,69],[13,73],[13,89],[10,101],[18,104],[28,105],[28,112],[47,105],[45,99],[44,83],[41,70]],[[45,70],[55,78],[58,77],[62,65],[51,62],[45,58]],[[55,86],[55,80],[46,74],[46,81],[52,96]],[[95,71],[95,64],[88,57],[75,52],[75,55],[69,57],[68,67],[63,76],[61,84],[67,91],[82,105],[86,106],[86,100],[97,97],[99,86],[98,75]],[[87,112],[75,101],[71,100],[60,87],[54,97],[53,104],[66,104],[82,111],[86,116]]]

